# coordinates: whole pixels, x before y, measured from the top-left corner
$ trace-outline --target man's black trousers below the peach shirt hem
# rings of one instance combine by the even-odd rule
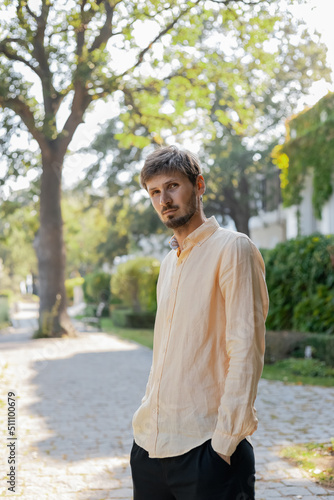
[[[133,442],[130,465],[134,500],[254,500],[255,463],[244,439],[231,465],[212,448],[211,440],[170,458],[149,458]]]

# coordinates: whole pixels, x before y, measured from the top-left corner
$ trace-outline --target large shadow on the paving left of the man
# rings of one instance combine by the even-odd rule
[[[31,383],[38,402],[29,410],[54,432],[35,442],[39,452],[71,461],[129,453],[150,359],[149,350],[134,349],[36,361]]]

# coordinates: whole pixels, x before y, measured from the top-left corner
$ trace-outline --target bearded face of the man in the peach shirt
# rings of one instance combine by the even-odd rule
[[[169,228],[184,226],[200,210],[196,186],[184,174],[156,175],[146,186],[154,209]]]

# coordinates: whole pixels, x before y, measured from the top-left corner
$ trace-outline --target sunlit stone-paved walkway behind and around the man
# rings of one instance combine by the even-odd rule
[[[18,396],[16,495],[132,499],[131,418],[145,390],[151,351],[98,332],[30,340],[35,317],[34,306],[20,304],[15,328],[0,334],[0,496],[15,496],[7,491],[7,405],[1,405],[13,391]],[[334,500],[333,491],[306,479],[277,454],[282,444],[334,435],[334,389],[261,380],[256,406],[257,500]]]

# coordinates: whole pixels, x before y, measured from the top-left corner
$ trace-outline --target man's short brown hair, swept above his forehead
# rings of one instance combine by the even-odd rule
[[[147,190],[147,182],[155,175],[180,172],[188,177],[195,186],[196,179],[202,173],[197,156],[190,151],[176,146],[166,146],[149,154],[140,172],[140,183]]]

